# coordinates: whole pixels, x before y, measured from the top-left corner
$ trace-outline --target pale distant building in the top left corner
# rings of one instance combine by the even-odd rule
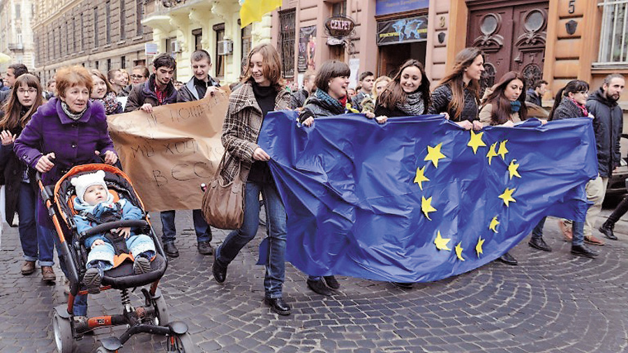
[[[35,65],[31,18],[36,1],[0,1],[0,52],[11,61],[0,64],[0,72],[6,72],[11,63],[24,63],[27,68]]]

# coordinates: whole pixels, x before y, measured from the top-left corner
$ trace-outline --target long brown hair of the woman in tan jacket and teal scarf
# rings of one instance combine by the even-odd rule
[[[506,87],[510,84],[510,82],[514,80],[520,80],[523,82],[523,89],[521,91],[521,95],[517,100],[521,103],[521,107],[519,108],[519,119],[525,120],[528,119],[528,107],[525,106],[525,78],[521,73],[516,71],[509,71],[505,73],[500,81],[493,86],[493,92],[486,96],[484,100],[482,100],[482,105],[486,106],[486,104],[490,103],[493,105],[493,111],[491,112],[491,121],[495,125],[501,125],[506,121],[510,120],[510,112],[511,105],[510,100],[504,96],[504,91],[506,91]]]

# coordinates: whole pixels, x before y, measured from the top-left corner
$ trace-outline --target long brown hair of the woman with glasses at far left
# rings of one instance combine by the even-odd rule
[[[20,103],[20,99],[17,98],[17,91],[23,84],[29,88],[37,89],[35,101],[24,115],[22,115],[22,109],[24,106]],[[37,108],[43,104],[43,95],[41,91],[42,88],[39,84],[39,79],[35,75],[25,73],[24,75],[17,77],[15,84],[13,84],[13,89],[11,89],[8,101],[4,106],[4,117],[0,120],[0,130],[14,130],[18,127],[24,128],[24,126],[26,126],[26,124],[31,120],[33,114],[35,114]]]

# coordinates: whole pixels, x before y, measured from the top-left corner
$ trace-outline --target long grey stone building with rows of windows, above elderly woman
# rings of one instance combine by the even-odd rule
[[[35,68],[43,82],[72,64],[130,70],[145,64],[144,43],[152,31],[142,24],[144,0],[34,1]],[[150,60],[150,59],[149,59]]]

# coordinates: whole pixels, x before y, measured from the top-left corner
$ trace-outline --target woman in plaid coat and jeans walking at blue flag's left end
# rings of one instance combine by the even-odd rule
[[[286,213],[268,165],[270,156],[257,144],[257,138],[268,112],[287,109],[290,109],[290,93],[281,77],[279,54],[270,44],[257,45],[248,54],[241,86],[229,97],[222,137],[226,156],[220,177],[225,183],[237,177],[246,183],[244,223],[239,230],[230,232],[223,244],[216,248],[212,272],[216,282],[225,282],[227,266],[255,237],[260,224],[261,193],[267,213],[269,251],[264,301],[280,315],[290,315],[290,306],[283,300]]]

